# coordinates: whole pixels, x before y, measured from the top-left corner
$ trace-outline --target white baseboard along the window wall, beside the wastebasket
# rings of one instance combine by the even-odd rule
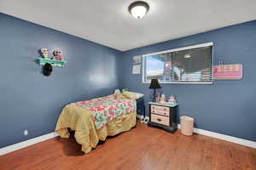
[[[178,124],[177,127],[180,128],[180,124]],[[209,136],[209,137],[216,138],[216,139],[226,140],[226,141],[229,141],[229,142],[232,142],[235,144],[241,144],[241,145],[245,145],[247,147],[256,149],[256,142],[253,142],[251,140],[240,139],[240,138],[225,135],[222,133],[213,133],[211,131],[207,131],[207,130],[204,130],[201,128],[194,128],[194,133],[202,134],[202,135]]]

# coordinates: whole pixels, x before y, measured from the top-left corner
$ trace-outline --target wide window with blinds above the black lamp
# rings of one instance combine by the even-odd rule
[[[212,42],[143,55],[143,82],[212,83]]]

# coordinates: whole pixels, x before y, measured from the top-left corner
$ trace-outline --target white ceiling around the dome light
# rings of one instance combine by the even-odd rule
[[[256,0],[0,0],[0,12],[83,37],[122,51],[256,19]]]

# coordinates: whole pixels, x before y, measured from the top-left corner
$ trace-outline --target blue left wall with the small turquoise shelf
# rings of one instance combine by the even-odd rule
[[[65,68],[44,77],[40,48],[60,48]],[[51,133],[64,105],[119,86],[112,48],[0,14],[0,148]],[[28,136],[23,130],[28,129]]]

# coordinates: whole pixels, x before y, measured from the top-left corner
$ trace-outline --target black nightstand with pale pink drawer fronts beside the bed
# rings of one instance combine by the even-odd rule
[[[148,127],[158,127],[174,133],[177,129],[177,105],[149,102]]]

